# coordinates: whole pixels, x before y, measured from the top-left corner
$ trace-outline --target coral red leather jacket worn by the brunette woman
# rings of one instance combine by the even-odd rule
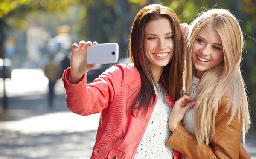
[[[70,68],[62,80],[70,111],[83,116],[101,112],[91,159],[133,159],[154,108],[151,105],[145,116],[131,115],[129,108],[141,87],[135,66],[116,64],[91,84],[86,84],[86,74],[78,84],[70,84],[69,75]],[[173,107],[171,97],[166,99]],[[173,154],[180,158],[177,150]]]

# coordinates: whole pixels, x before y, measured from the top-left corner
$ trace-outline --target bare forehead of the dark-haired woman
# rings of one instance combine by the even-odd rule
[[[160,18],[149,21],[145,26],[145,33],[154,32],[154,34],[161,32],[172,32],[172,26],[168,19]]]

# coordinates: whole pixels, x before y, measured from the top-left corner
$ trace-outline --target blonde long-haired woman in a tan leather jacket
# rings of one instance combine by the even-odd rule
[[[240,144],[251,124],[240,70],[243,44],[238,20],[227,10],[211,9],[192,22],[185,96],[175,102],[166,143],[183,159],[250,158]],[[195,102],[184,102],[188,96]]]

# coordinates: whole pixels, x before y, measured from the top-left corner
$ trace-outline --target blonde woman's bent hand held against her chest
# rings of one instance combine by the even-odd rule
[[[180,121],[184,118],[185,113],[195,105],[195,99],[184,95],[174,103],[172,113],[169,118],[169,129],[174,132]]]

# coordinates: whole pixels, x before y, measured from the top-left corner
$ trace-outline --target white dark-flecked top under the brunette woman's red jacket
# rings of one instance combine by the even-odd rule
[[[157,102],[134,159],[173,159],[172,148],[165,145],[171,133],[168,126],[171,107],[166,101],[166,90],[160,84],[157,88]]]

